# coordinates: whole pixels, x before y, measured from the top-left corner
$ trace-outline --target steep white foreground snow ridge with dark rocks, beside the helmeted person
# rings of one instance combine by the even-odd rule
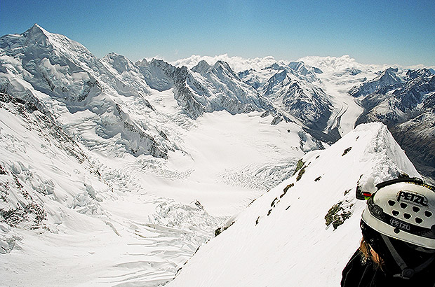
[[[342,268],[361,239],[365,203],[356,201],[356,186],[374,190],[399,173],[418,176],[380,123],[359,125],[302,161],[292,178],[201,247],[168,286],[339,286]],[[335,204],[336,217],[326,225]]]

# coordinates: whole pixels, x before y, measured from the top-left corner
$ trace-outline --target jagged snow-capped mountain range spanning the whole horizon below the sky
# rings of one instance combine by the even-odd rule
[[[21,35],[1,37],[0,48],[0,92],[29,99],[35,90],[62,102],[72,113],[91,111],[100,137],[121,132],[126,150],[136,155],[166,158],[168,150],[175,148],[161,137],[160,127],[138,123],[114,99],[135,97],[152,110],[147,101],[152,90],[172,89],[182,111],[192,119],[213,111],[262,111],[274,116],[273,124],[281,120],[297,123],[320,141],[332,143],[343,134],[337,123],[341,120],[337,110],[342,107],[335,94],[325,91],[324,81],[330,79],[322,78],[318,67],[301,61],[236,72],[221,60],[213,64],[201,60],[189,69],[159,59],[133,63],[114,53],[98,59],[83,45],[39,25]],[[368,73],[374,78],[361,78]],[[434,176],[433,70],[388,68],[374,73],[348,66],[331,76],[349,78],[347,85],[356,83],[348,91],[363,107],[356,124],[374,120],[387,124],[417,167]],[[32,99],[44,105],[41,97]]]

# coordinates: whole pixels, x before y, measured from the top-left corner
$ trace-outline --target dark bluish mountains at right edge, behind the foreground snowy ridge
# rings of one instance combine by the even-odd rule
[[[364,111],[356,123],[380,121],[417,168],[435,176],[435,76],[429,69],[386,69],[353,87]]]

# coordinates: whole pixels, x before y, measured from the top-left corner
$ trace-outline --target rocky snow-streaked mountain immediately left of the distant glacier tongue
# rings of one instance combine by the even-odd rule
[[[316,73],[321,72],[303,62],[290,62],[274,63],[261,71],[242,71],[239,77],[276,106],[281,120],[292,120],[314,132],[323,132],[328,127],[333,104],[321,87],[312,85],[319,80]],[[335,134],[332,141],[339,137],[340,134]]]

